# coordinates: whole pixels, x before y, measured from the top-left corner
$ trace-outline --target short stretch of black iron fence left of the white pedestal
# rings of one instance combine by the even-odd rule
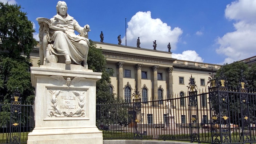
[[[27,143],[34,124],[33,105],[0,103],[0,144]]]

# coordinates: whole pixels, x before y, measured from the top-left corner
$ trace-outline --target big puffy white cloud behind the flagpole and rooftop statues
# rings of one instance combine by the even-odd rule
[[[168,51],[168,43],[171,43],[174,50],[182,33],[179,27],[171,29],[171,26],[160,19],[152,19],[150,11],[137,12],[128,22],[127,45],[136,47],[136,41],[140,37],[141,48],[153,49],[153,41],[156,40],[157,50]],[[122,44],[124,43],[125,36],[122,39]]]

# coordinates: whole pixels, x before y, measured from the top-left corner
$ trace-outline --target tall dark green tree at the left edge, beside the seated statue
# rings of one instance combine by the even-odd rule
[[[37,42],[33,39],[33,24],[26,15],[21,6],[0,2],[0,101],[4,103],[9,103],[16,89],[23,101],[33,97],[29,54]]]

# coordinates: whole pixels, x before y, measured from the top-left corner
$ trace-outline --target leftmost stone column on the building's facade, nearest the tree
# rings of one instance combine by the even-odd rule
[[[119,68],[119,73],[118,73],[118,97],[123,97],[123,66],[124,66],[124,62],[123,61],[119,61],[117,63],[117,68]]]

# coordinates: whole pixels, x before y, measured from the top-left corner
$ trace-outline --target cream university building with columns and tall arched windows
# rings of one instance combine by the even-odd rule
[[[107,60],[106,67],[113,69],[111,84],[109,87],[116,96],[124,99],[125,102],[132,102],[132,93],[136,90],[141,93],[143,102],[152,100],[164,100],[168,98],[184,97],[188,95],[189,80],[195,81],[197,90],[201,93],[206,91],[209,73],[216,71],[221,65],[199,63],[195,61],[177,60],[172,58],[171,52],[157,51],[153,49],[129,47],[109,43],[94,42],[97,48],[101,48]],[[39,47],[36,47],[31,53],[33,65],[36,67],[39,60]],[[199,103],[205,103],[206,97]],[[188,101],[178,101],[172,104],[175,111],[185,111]],[[178,105],[178,106],[177,106]],[[141,119],[143,123],[165,123],[164,113],[149,112],[152,103],[144,105],[143,111],[146,119]],[[157,104],[159,108],[166,108],[163,101]],[[161,116],[161,119],[156,119]],[[178,117],[179,123],[188,123],[186,115],[188,113],[175,113],[172,115]],[[198,117],[201,120],[208,119]],[[177,122],[176,122],[177,123]]]

